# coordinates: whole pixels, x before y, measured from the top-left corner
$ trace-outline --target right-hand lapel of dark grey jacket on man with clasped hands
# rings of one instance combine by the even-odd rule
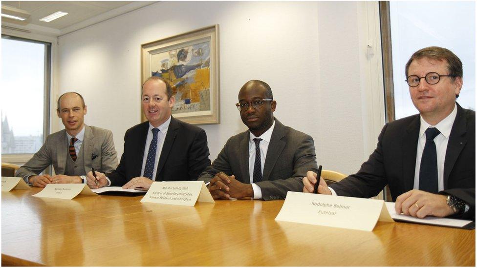
[[[263,165],[262,181],[268,181],[273,167],[277,163],[278,158],[282,154],[283,148],[286,142],[282,141],[284,135],[283,124],[275,119],[275,128],[270,138],[270,144],[268,144],[268,151],[265,158],[265,165]]]

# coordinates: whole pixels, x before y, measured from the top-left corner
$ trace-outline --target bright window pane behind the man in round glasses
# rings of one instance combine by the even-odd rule
[[[475,110],[475,2],[390,1],[389,6],[395,118],[418,113],[404,68],[412,53],[428,46],[445,47],[462,61],[464,83],[457,102]]]

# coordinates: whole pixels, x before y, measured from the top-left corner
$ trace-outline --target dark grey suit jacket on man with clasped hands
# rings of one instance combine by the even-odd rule
[[[313,138],[277,119],[263,166],[260,186],[263,200],[284,199],[287,191],[302,192],[306,171],[318,170]],[[231,137],[217,159],[199,176],[199,180],[210,182],[222,171],[242,183],[250,184],[248,146],[250,132],[247,130]]]

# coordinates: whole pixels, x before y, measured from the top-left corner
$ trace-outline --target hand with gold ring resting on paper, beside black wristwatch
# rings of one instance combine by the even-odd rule
[[[397,214],[425,218],[426,216],[446,217],[454,214],[454,210],[447,205],[447,197],[420,190],[405,192],[396,198],[394,206]]]

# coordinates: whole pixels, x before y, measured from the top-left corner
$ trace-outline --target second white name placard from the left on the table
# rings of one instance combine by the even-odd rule
[[[43,190],[32,196],[60,199],[73,199],[79,194],[98,195],[86,184],[47,184]]]

